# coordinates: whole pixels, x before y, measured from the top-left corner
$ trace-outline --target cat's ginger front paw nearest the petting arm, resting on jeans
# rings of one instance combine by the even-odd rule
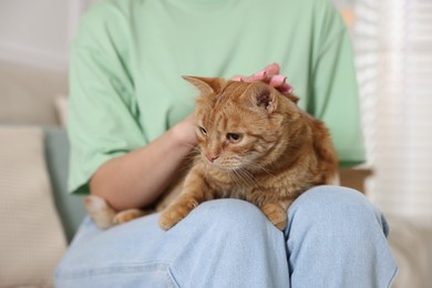
[[[164,230],[171,229],[189,214],[198,202],[194,198],[184,198],[164,209],[160,216],[160,226]]]

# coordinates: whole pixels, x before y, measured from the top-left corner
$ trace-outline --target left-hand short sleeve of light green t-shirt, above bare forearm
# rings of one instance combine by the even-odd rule
[[[94,7],[83,17],[71,48],[71,193],[88,194],[89,181],[103,163],[146,144],[122,17],[112,7]]]

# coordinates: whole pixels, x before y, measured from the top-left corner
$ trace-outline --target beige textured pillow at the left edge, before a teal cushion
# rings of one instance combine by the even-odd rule
[[[52,287],[66,241],[39,127],[0,126],[0,287]]]

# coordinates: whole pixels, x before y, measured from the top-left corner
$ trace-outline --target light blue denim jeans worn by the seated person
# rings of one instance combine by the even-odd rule
[[[320,186],[282,233],[238,199],[200,204],[168,232],[158,215],[107,230],[88,218],[55,287],[389,287],[397,271],[383,215],[349,188]]]

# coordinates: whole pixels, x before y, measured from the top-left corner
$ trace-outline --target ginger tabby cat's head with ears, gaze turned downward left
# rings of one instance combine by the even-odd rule
[[[264,82],[184,79],[200,91],[195,120],[204,162],[225,171],[251,171],[280,156],[291,122],[299,117],[296,96]]]

